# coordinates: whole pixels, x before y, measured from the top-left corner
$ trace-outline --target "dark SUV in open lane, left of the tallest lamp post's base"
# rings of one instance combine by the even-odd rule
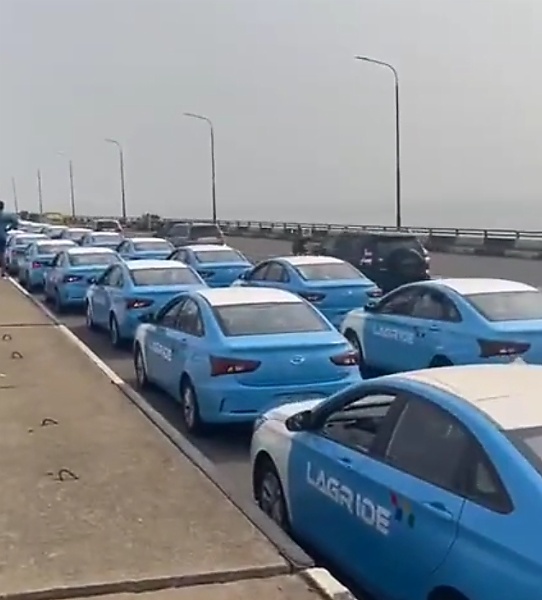
[[[384,292],[412,281],[430,279],[429,254],[412,233],[330,233],[315,251],[346,260]]]

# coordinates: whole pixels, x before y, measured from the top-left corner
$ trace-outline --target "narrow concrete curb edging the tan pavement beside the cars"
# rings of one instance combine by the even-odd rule
[[[240,496],[235,490],[232,490],[228,482],[224,479],[215,465],[189,440],[183,437],[169,422],[156,411],[146,400],[134,390],[126,381],[119,377],[97,354],[95,354],[86,344],[84,344],[72,331],[66,327],[58,317],[50,311],[47,306],[38,300],[35,296],[25,290],[19,282],[10,278],[10,283],[26,298],[28,298],[39,310],[41,310],[52,323],[58,327],[64,336],[79,350],[81,350],[93,363],[102,371],[102,373],[115,385],[148,419],[157,427],[227,498],[236,506],[245,517],[265,535],[269,542],[277,549],[278,553],[287,561],[289,568],[281,570],[273,567],[268,573],[249,574],[250,577],[272,577],[286,573],[297,573],[315,588],[327,600],[355,600],[347,588],[337,581],[327,569],[316,568],[313,559],[306,554],[295,542],[293,542],[282,529],[280,529],[271,519],[269,519],[252,502]],[[228,581],[230,574],[223,575],[224,580]],[[179,587],[176,578],[163,582],[126,582],[130,589],[134,591],[151,591],[152,589],[165,589],[168,587]],[[195,582],[201,583],[201,582]],[[112,584],[114,591],[109,591],[111,585],[91,586],[96,589],[87,590],[82,594],[85,596],[103,595],[118,593],[118,585]],[[183,584],[184,585],[184,584]],[[130,591],[130,589],[128,591]],[[82,591],[82,590],[81,590]],[[126,591],[126,590],[124,590]],[[61,590],[58,590],[61,592]],[[71,592],[70,592],[71,594]],[[58,596],[64,597],[62,594]],[[65,596],[68,597],[68,596]],[[3,598],[0,595],[0,598]],[[36,597],[39,600],[41,596]]]

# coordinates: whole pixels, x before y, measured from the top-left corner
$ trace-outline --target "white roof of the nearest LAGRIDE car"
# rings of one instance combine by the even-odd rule
[[[418,381],[459,396],[504,430],[542,426],[540,365],[467,365],[423,369],[392,377]]]

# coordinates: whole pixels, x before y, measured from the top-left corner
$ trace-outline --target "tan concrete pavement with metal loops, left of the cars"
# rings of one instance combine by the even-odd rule
[[[314,598],[267,538],[7,280],[0,307],[0,597],[167,589],[149,600]]]

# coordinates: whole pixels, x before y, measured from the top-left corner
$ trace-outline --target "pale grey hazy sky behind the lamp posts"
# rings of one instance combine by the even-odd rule
[[[0,0],[0,195],[119,214],[542,229],[540,0]]]

